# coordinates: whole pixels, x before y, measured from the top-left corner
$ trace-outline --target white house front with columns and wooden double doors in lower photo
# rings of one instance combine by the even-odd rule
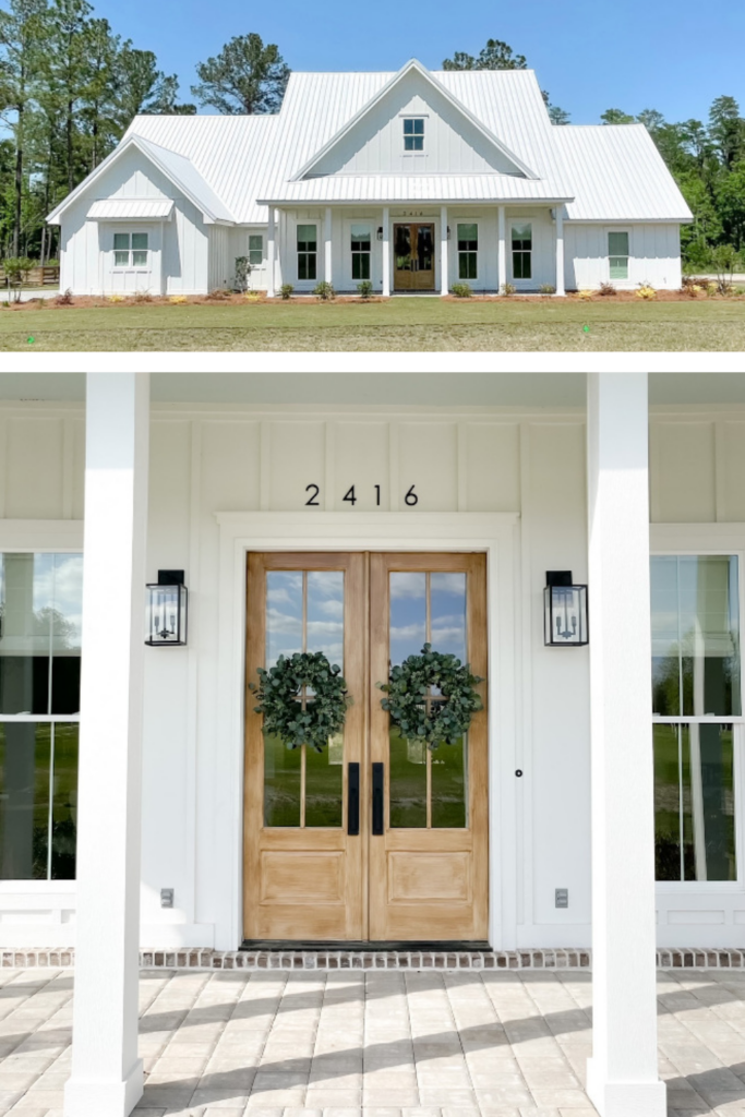
[[[656,943],[745,927],[745,375],[3,373],[0,465],[0,955],[76,949],[67,1117],[142,1092],[139,947],[288,942],[592,946],[591,1096],[663,1117]],[[484,680],[437,753],[376,688],[426,641]],[[300,650],[321,754],[247,686]]]

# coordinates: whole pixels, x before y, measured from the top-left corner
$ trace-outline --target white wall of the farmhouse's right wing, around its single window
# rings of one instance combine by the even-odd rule
[[[608,233],[629,233],[629,278],[610,278]],[[592,290],[613,283],[619,290],[633,290],[649,283],[660,290],[677,290],[681,284],[680,226],[662,223],[579,225],[564,223],[565,280],[569,290]]]

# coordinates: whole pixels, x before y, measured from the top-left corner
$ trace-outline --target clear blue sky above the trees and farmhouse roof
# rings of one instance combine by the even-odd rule
[[[432,68],[455,50],[506,40],[527,57],[552,101],[575,124],[609,107],[658,108],[668,120],[705,117],[720,94],[745,111],[745,4],[701,0],[93,0],[96,13],[154,50],[179,75],[184,99],[194,65],[233,35],[258,31],[293,69],[398,69],[417,56]]]

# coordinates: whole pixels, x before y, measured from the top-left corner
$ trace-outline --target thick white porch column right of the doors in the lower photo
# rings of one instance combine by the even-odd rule
[[[665,1117],[657,1072],[647,373],[590,373],[593,1057],[602,1117]]]

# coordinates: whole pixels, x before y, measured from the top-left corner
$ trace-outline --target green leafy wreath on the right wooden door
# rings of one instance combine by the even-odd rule
[[[484,682],[471,675],[468,663],[457,656],[432,651],[426,643],[419,656],[409,656],[391,669],[388,682],[378,686],[388,695],[381,706],[391,715],[407,741],[426,742],[429,748],[456,745],[471,724],[474,714],[484,708],[474,688]],[[436,687],[442,699],[428,699]]]

